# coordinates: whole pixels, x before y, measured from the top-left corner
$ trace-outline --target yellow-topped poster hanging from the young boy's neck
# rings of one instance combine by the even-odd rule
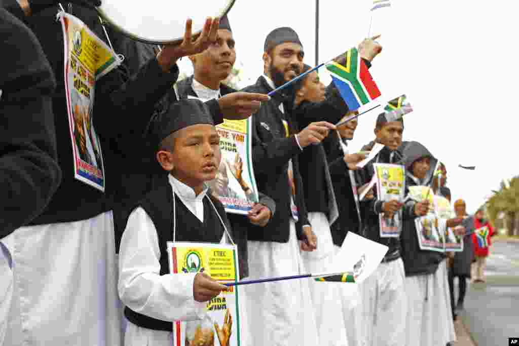
[[[170,272],[204,272],[221,282],[238,282],[235,245],[168,242]],[[173,322],[173,346],[240,346],[237,286],[231,286],[207,303],[197,321]]]

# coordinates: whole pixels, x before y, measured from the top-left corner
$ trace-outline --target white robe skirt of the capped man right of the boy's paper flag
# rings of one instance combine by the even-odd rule
[[[366,346],[401,346],[406,339],[404,262],[381,263],[360,287]]]

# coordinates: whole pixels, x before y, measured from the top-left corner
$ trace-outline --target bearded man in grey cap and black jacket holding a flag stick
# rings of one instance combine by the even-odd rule
[[[376,55],[373,41],[363,43],[361,54]],[[379,51],[380,49],[378,49]],[[303,70],[304,50],[299,37],[290,27],[279,27],[270,32],[264,44],[264,75],[245,91],[268,93],[296,77]],[[369,59],[368,59],[369,60]],[[265,229],[249,231],[249,267],[251,278],[283,276],[297,273],[301,268],[303,251],[313,251],[317,246],[307,217],[304,186],[299,173],[299,154],[311,144],[320,143],[335,126],[320,121],[325,116],[336,122],[348,112],[339,92],[332,86],[327,89],[326,100],[300,105],[294,112],[293,87],[277,92],[273,99],[263,103],[253,118],[252,157],[258,189],[276,201],[276,215]],[[297,132],[301,118],[308,126]],[[316,121],[316,122],[312,122]],[[289,180],[289,169],[294,177],[294,190]],[[305,345],[319,344],[316,340],[316,322],[308,304],[307,281],[257,284],[245,287],[253,344]],[[263,325],[269,333],[264,333]],[[303,331],[303,332],[302,332]]]

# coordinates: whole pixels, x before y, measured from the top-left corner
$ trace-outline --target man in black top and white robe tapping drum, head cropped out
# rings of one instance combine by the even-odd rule
[[[165,46],[129,79],[116,68],[96,82],[93,124],[105,159],[107,184],[103,193],[72,174],[73,139],[67,121],[63,31],[56,23],[57,2],[21,3],[22,7],[16,1],[4,1],[4,6],[26,15],[23,19],[40,41],[56,75],[52,109],[63,179],[46,210],[15,233],[17,251],[11,255],[17,280],[6,344],[24,340],[32,344],[119,345],[121,316],[112,210],[117,189],[122,189],[118,185],[121,172],[141,168],[134,164],[133,156],[142,149],[141,134],[154,105],[178,76],[176,61],[206,49],[216,38],[218,20],[208,19],[195,41],[192,21],[188,20],[181,45]],[[89,4],[100,2],[74,2],[67,8],[107,42],[98,12]],[[214,101],[212,112],[223,118],[229,101]],[[230,115],[241,114],[237,109]],[[254,113],[245,111],[247,116]],[[56,299],[57,292],[60,299]]]

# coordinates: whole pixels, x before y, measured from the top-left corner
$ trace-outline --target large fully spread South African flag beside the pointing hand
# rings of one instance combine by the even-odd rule
[[[335,87],[343,96],[350,112],[380,96],[380,90],[360,58],[357,48],[351,48],[333,59],[326,64],[326,70],[330,72]]]

